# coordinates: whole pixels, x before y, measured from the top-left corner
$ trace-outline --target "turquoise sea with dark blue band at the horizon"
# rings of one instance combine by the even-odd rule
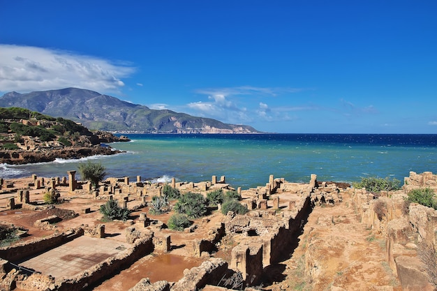
[[[0,177],[66,176],[78,163],[101,162],[107,177],[135,180],[206,181],[212,175],[243,189],[265,185],[269,174],[287,181],[359,181],[410,171],[437,172],[437,135],[256,134],[127,135],[131,142],[110,144],[126,151],[114,156],[57,160],[33,165],[0,165]],[[80,177],[78,177],[80,179]]]

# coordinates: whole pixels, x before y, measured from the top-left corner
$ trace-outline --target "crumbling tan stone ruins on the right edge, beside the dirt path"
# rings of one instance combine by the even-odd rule
[[[401,191],[391,191],[375,197],[365,189],[349,189],[353,207],[359,212],[362,223],[386,237],[386,260],[397,275],[403,290],[434,290],[437,277],[429,278],[427,267],[419,253],[434,250],[434,267],[437,271],[437,210],[417,203],[406,202],[408,192],[415,188],[437,191],[437,175],[432,172],[410,172],[404,179]],[[427,253],[431,255],[432,253]],[[434,266],[433,266],[434,264]],[[434,287],[429,281],[434,280]]]

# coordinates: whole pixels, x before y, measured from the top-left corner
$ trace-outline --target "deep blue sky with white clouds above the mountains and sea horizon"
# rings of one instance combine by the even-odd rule
[[[277,133],[437,133],[437,1],[0,0],[0,95],[79,87]]]

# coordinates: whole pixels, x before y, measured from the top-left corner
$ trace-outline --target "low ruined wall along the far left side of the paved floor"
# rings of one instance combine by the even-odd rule
[[[0,258],[11,262],[17,262],[31,255],[47,251],[50,248],[66,244],[77,237],[84,234],[81,228],[72,232],[62,232],[60,234],[52,234],[49,237],[43,237],[34,241],[25,241],[14,246],[0,248]]]

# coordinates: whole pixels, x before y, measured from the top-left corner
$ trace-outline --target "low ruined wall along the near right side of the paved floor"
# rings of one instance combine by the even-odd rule
[[[68,278],[56,282],[56,289],[59,291],[77,291],[83,290],[84,286],[90,286],[101,281],[103,278],[108,278],[114,272],[124,269],[145,255],[154,251],[153,234],[147,235],[142,239],[135,241],[134,246],[128,250],[118,253],[114,257],[108,258],[94,267],[82,271],[73,278]]]

